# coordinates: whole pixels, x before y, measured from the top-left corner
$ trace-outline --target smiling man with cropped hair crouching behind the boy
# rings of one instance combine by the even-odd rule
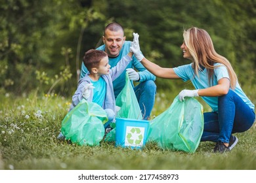
[[[96,50],[103,50],[108,54],[111,67],[115,67],[118,61],[130,52],[131,41],[125,41],[125,39],[126,37],[124,36],[123,27],[121,27],[121,25],[111,23],[105,27],[104,36],[102,36],[104,44],[96,48]],[[133,82],[132,85],[139,102],[143,119],[148,120],[155,102],[156,84],[154,83],[154,80],[156,80],[156,76],[147,71],[135,56],[133,56],[126,68],[129,73],[129,79],[135,82],[140,82],[136,87],[134,87]],[[139,72],[137,73],[134,68]],[[80,78],[83,78],[87,72],[87,68],[82,63]],[[123,73],[113,82],[115,97],[117,97],[125,86],[125,72],[126,71],[123,71]]]

